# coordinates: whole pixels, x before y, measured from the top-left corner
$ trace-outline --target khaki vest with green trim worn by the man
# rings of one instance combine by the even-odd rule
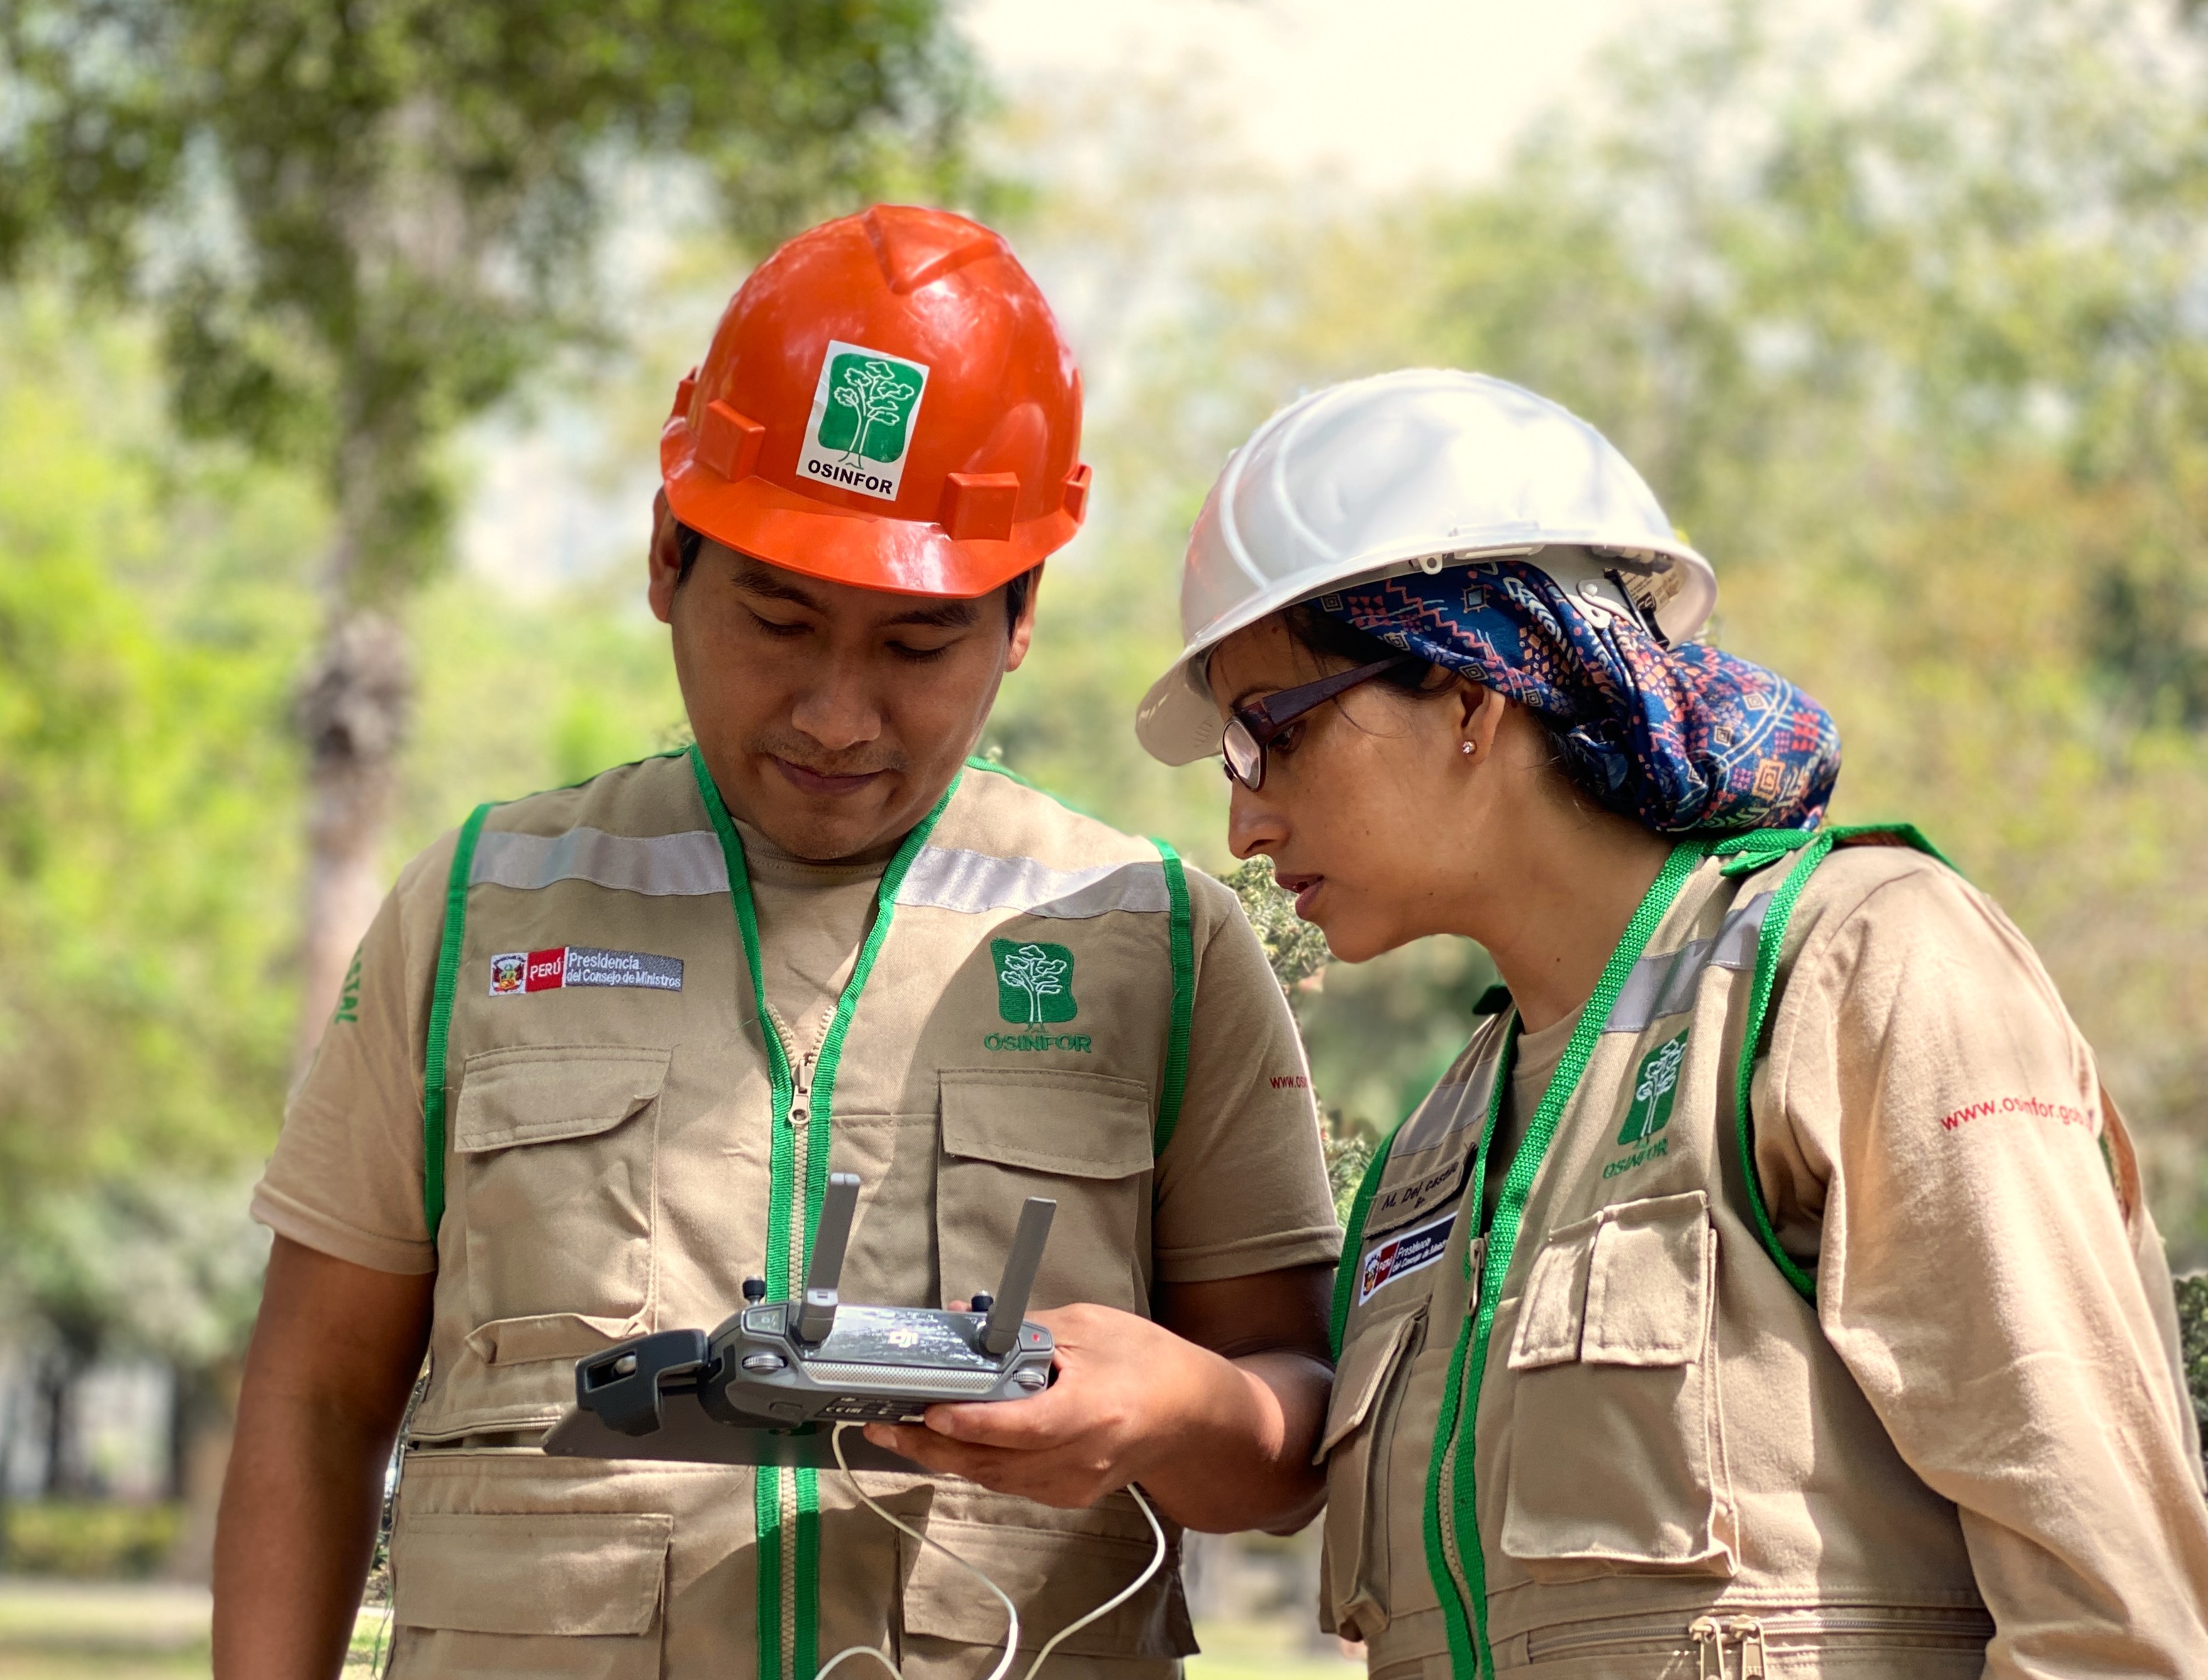
[[[890,861],[806,1055],[760,1004],[744,850],[696,748],[470,817],[426,1035],[437,1285],[395,1671],[810,1680],[883,1642],[912,1680],[985,1671],[996,1601],[839,1475],[548,1459],[534,1439],[576,1358],[711,1327],[746,1276],[790,1294],[830,1166],[866,1181],[846,1300],[994,1287],[1022,1199],[1047,1194],[1036,1307],[1146,1314],[1188,929],[1168,848],[976,764]],[[1060,1512],[866,1486],[991,1574],[1029,1647],[1150,1556],[1126,1495]],[[1066,1651],[1164,1673],[1192,1647],[1166,1567]]]

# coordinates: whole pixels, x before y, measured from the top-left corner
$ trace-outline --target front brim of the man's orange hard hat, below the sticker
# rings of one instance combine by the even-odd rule
[[[784,572],[890,594],[985,596],[1080,530],[1060,508],[1018,521],[1009,539],[958,539],[930,521],[837,508],[757,475],[729,481],[696,464],[680,424],[660,435],[660,472],[673,517],[715,543]]]

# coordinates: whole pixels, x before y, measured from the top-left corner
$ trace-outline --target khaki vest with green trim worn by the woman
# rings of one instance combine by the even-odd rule
[[[1981,1673],[1954,1506],[1819,1331],[1735,1119],[1800,883],[1850,834],[1671,854],[1486,1236],[1515,1016],[1367,1174],[1320,1450],[1325,1605],[1373,1676]]]

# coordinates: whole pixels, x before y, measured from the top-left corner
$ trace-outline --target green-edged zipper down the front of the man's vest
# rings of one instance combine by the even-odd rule
[[[819,1221],[821,1199],[828,1192],[828,1150],[832,1144],[830,1115],[835,1113],[835,1075],[843,1055],[843,1040],[850,1035],[850,1020],[859,1009],[859,993],[866,991],[874,958],[890,936],[890,918],[896,914],[896,890],[905,883],[912,859],[927,846],[927,837],[958,793],[958,777],[936,799],[919,828],[905,834],[903,846],[881,872],[881,887],[874,894],[874,925],[859,947],[843,996],[837,998],[835,1018],[821,1038],[819,1057],[806,1082],[804,1106],[797,1104],[797,1082],[790,1075],[790,1057],[782,1044],[782,1033],[766,1013],[766,976],[760,960],[760,912],[751,901],[751,870],[744,865],[744,841],[729,819],[713,773],[704,768],[704,755],[689,748],[691,773],[698,777],[698,797],[704,799],[713,832],[720,837],[722,859],[729,865],[729,896],[735,901],[735,925],[744,936],[744,965],[751,971],[751,998],[760,1009],[760,1038],[766,1044],[768,1084],[773,1091],[773,1155],[766,1203],[766,1294],[784,1300],[795,1289],[795,1280],[810,1258],[813,1225]],[[808,1680],[819,1665],[819,1472],[817,1470],[760,1470],[753,1477],[753,1514],[760,1537],[757,1576],[757,1623],[760,1623],[760,1680]]]

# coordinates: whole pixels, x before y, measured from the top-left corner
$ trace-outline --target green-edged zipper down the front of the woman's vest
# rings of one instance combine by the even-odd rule
[[[1526,1214],[1526,1197],[1532,1190],[1535,1174],[1541,1170],[1541,1159],[1548,1155],[1548,1144],[1557,1135],[1557,1119],[1572,1099],[1579,1075],[1588,1071],[1588,1057],[1603,1035],[1603,1022],[1610,1020],[1610,1009],[1616,1004],[1625,978],[1634,971],[1634,963],[1647,949],[1656,925],[1671,910],[1678,890],[1707,852],[1709,841],[1689,839],[1674,846],[1671,857],[1656,872],[1656,881],[1649,885],[1641,907],[1625,923],[1618,947],[1610,954],[1610,963],[1603,965],[1601,980],[1594,982],[1594,996],[1579,1011],[1579,1024],[1563,1046],[1563,1057],[1548,1080],[1548,1091],[1541,1093],[1541,1104],[1526,1126],[1526,1137],[1517,1155],[1510,1157],[1510,1170],[1504,1174],[1504,1190],[1495,1203],[1495,1225],[1488,1232],[1488,1247],[1479,1267],[1479,1291],[1471,1316],[1457,1331],[1448,1380],[1442,1389],[1442,1415],[1433,1433],[1433,1457],[1426,1470],[1426,1572],[1433,1576],[1433,1589],[1442,1601],[1442,1618],[1448,1625],[1451,1671],[1459,1676],[1493,1678],[1495,1673],[1495,1654],[1488,1649],[1488,1565],[1479,1545],[1479,1386],[1488,1364],[1488,1336],[1495,1329],[1495,1307],[1501,1298],[1504,1278],[1510,1272],[1510,1256],[1517,1250],[1519,1221]],[[1512,1016],[1512,1035],[1504,1044],[1501,1062],[1495,1068],[1488,1124],[1479,1137],[1473,1183],[1466,1192],[1475,1199],[1479,1197],[1479,1185],[1486,1183],[1495,1115],[1501,1106],[1501,1093],[1510,1082],[1510,1053],[1517,1044],[1515,1020]],[[1457,1450],[1459,1435],[1473,1437],[1464,1444],[1468,1450]]]

